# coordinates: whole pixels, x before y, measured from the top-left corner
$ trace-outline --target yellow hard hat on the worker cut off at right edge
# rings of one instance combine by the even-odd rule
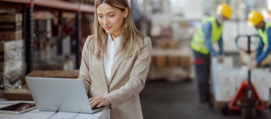
[[[261,21],[263,21],[264,18],[261,15],[261,13],[259,13],[256,10],[252,10],[249,14],[248,14],[248,20],[247,20],[247,24],[250,26],[256,26],[259,23],[261,23]]]

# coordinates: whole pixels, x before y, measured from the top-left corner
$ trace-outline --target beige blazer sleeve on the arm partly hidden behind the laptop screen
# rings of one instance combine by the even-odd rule
[[[88,36],[86,39],[86,42],[83,46],[82,50],[82,59],[81,59],[81,65],[79,69],[79,77],[78,79],[81,79],[83,81],[84,87],[86,89],[86,93],[89,93],[90,85],[91,85],[91,79],[89,76],[89,40],[91,36]]]

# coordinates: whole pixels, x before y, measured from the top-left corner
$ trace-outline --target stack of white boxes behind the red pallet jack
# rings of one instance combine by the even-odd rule
[[[233,58],[225,57],[222,64],[212,59],[212,87],[216,102],[229,102],[236,95],[243,81],[248,79],[248,68],[233,67]],[[251,82],[264,102],[270,100],[271,73],[269,68],[256,68],[251,71]]]

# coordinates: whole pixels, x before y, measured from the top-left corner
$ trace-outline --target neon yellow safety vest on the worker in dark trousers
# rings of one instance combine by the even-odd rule
[[[202,27],[206,22],[211,22],[211,42],[215,43],[217,42],[221,35],[222,35],[222,29],[223,25],[221,24],[220,26],[217,25],[216,23],[216,18],[215,17],[209,17],[201,22],[201,26],[197,30],[197,32],[193,35],[193,40],[191,41],[191,47],[193,50],[200,52],[202,54],[209,54],[209,51],[205,45],[205,34],[202,31]]]

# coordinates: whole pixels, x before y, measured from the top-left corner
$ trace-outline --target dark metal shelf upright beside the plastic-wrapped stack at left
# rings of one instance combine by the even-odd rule
[[[25,5],[25,55],[27,73],[33,70],[33,7],[32,3]]]

